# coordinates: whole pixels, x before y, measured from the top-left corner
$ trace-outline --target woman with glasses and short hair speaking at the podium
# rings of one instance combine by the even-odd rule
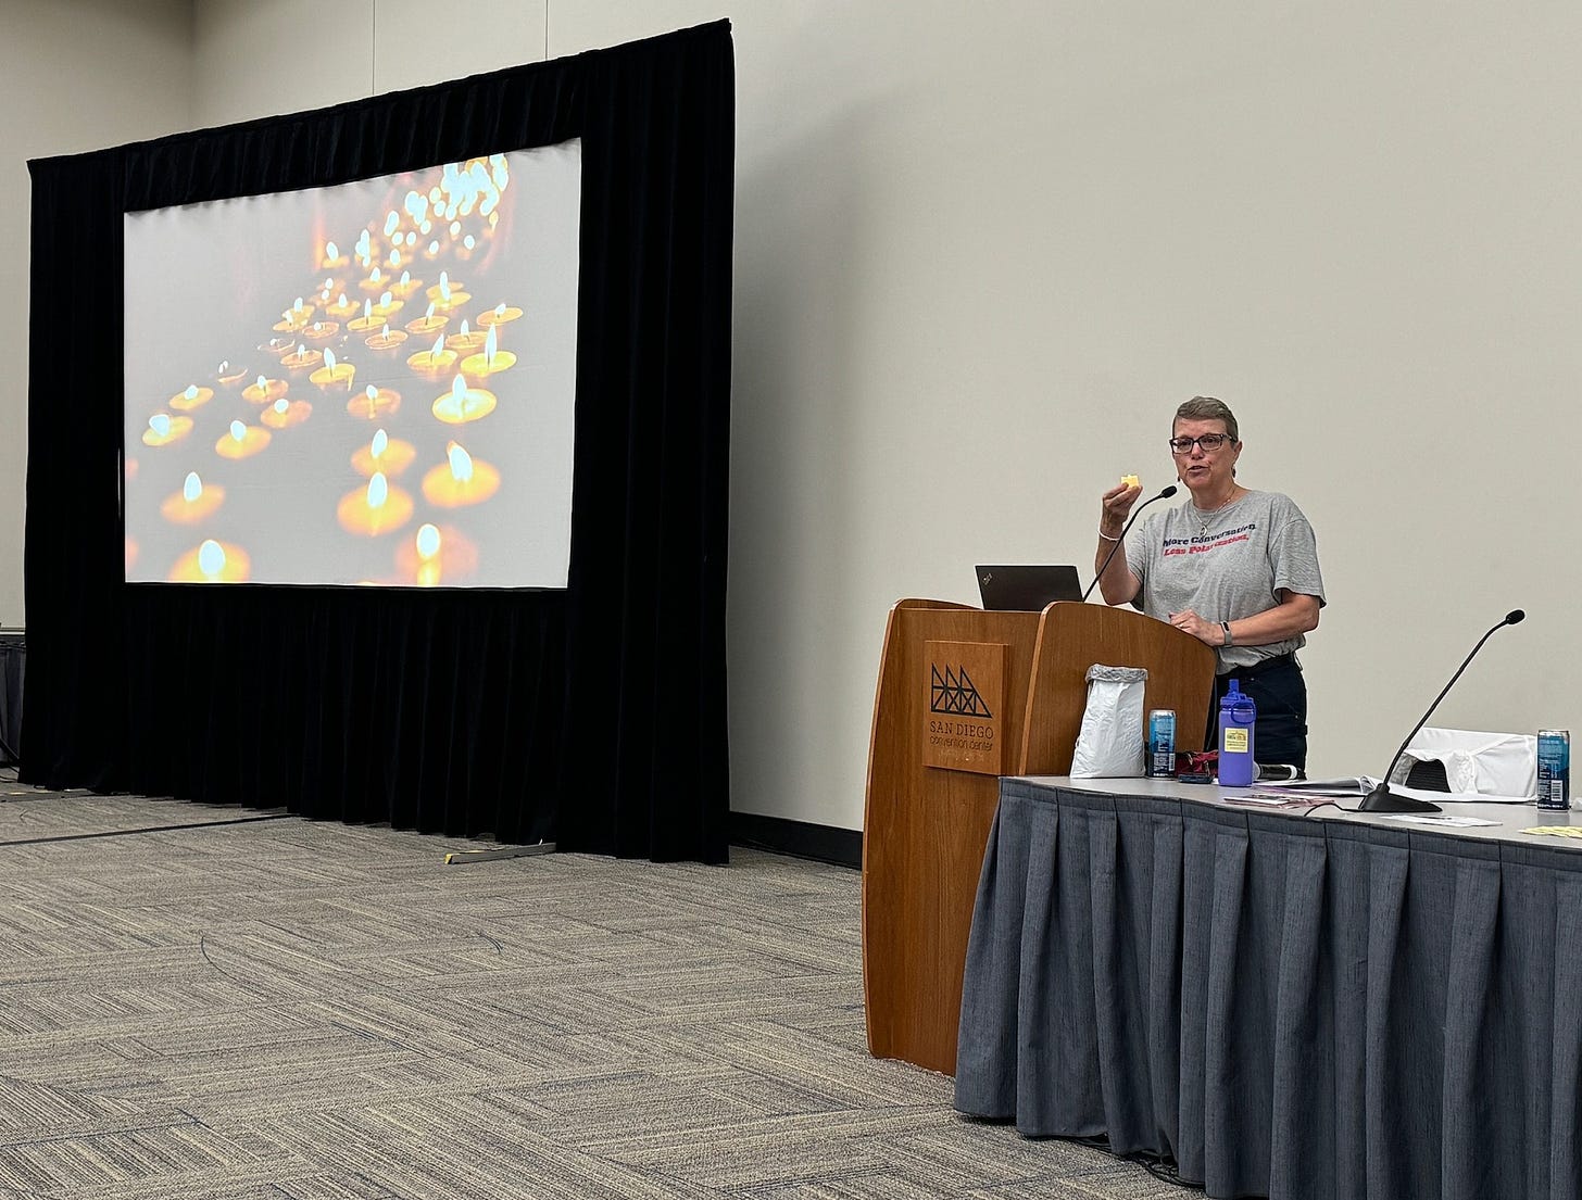
[[[1169,444],[1190,498],[1137,526],[1104,568],[1099,591],[1107,604],[1133,604],[1213,647],[1210,729],[1236,678],[1258,705],[1258,760],[1305,768],[1307,683],[1296,651],[1324,607],[1313,526],[1289,496],[1236,482],[1242,441],[1223,402],[1199,395],[1177,408]],[[1141,495],[1126,484],[1104,493],[1095,569]]]

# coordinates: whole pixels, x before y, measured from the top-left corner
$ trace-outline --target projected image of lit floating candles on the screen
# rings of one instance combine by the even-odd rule
[[[579,210],[570,141],[127,213],[127,579],[565,587]]]

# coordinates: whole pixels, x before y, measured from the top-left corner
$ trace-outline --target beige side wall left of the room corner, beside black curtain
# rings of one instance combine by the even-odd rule
[[[188,0],[0,0],[0,626],[25,621],[28,158],[158,138],[191,120]],[[63,327],[65,332],[65,327]],[[62,398],[62,403],[66,403]],[[115,463],[101,463],[114,471]],[[63,481],[70,487],[70,481]]]

